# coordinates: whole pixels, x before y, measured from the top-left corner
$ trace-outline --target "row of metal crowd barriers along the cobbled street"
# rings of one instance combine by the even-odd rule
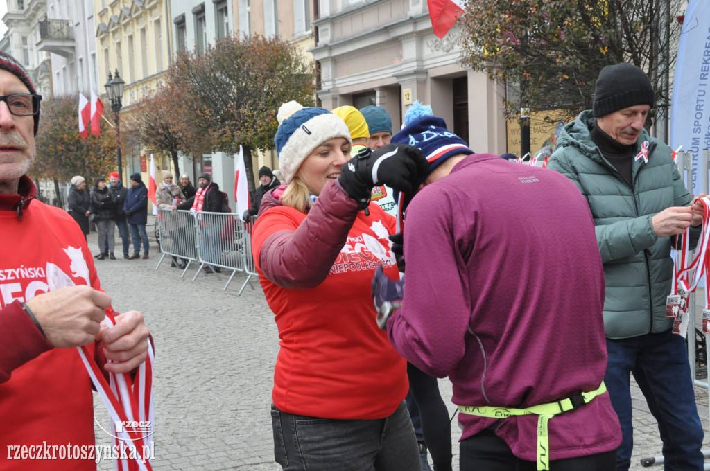
[[[185,276],[191,262],[199,262],[200,267],[192,281],[197,279],[204,267],[209,267],[218,278],[216,269],[231,271],[222,291],[226,291],[237,272],[246,275],[239,294],[244,292],[247,284],[254,289],[251,278],[256,275],[256,270],[251,255],[251,221],[245,224],[232,213],[161,209],[159,215],[160,251],[163,256],[155,270],[158,270],[165,255],[170,255],[188,260],[180,277]]]

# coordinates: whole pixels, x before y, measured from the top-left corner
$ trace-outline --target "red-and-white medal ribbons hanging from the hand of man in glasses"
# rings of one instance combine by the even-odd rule
[[[113,327],[116,313],[110,309],[104,323]],[[111,436],[114,441],[114,470],[152,471],[153,455],[153,345],[148,338],[148,357],[138,367],[135,377],[129,373],[109,372],[107,382],[86,348],[78,348],[84,367],[111,414]],[[110,360],[109,360],[110,361]]]

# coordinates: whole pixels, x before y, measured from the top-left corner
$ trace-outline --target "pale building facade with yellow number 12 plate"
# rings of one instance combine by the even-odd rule
[[[382,106],[396,132],[419,100],[477,153],[506,152],[504,90],[461,67],[458,26],[437,38],[424,0],[315,1],[311,52],[324,108]]]

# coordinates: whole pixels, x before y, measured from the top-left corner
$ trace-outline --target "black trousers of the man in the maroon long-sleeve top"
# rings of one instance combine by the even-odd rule
[[[537,463],[520,460],[508,444],[496,436],[496,425],[462,440],[461,471],[536,471]],[[616,450],[597,455],[551,460],[550,471],[615,471]]]

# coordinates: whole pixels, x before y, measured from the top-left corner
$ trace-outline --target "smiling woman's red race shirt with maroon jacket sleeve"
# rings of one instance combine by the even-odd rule
[[[370,284],[379,265],[398,277],[394,218],[374,203],[365,216],[334,182],[306,216],[280,206],[284,188],[264,196],[252,235],[281,338],[273,402],[326,419],[390,416],[407,394],[407,366],[377,326]]]

